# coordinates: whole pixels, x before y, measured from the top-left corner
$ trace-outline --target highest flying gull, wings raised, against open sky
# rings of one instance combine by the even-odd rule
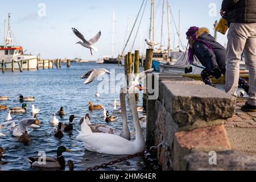
[[[76,28],[72,28],[72,30],[73,30],[74,34],[75,34],[79,39],[82,40],[82,42],[77,42],[77,44],[81,44],[81,46],[84,46],[84,47],[90,49],[91,55],[93,55],[92,49],[93,49],[94,51],[96,51],[96,52],[98,51],[98,48],[97,48],[97,47],[94,47],[93,44],[95,44],[96,42],[98,42],[98,39],[100,39],[100,37],[101,37],[101,31],[99,31],[98,34],[97,34],[96,36],[94,36],[94,38],[92,38],[92,39],[90,39],[90,40],[88,41],[88,40],[86,40],[86,39],[84,38],[84,35],[82,35],[78,30],[76,30]]]

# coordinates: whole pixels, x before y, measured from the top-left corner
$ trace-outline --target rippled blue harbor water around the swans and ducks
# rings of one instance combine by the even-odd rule
[[[94,95],[97,92],[97,86],[100,81],[94,81],[89,85],[84,85],[84,80],[80,76],[93,68],[115,69],[115,75],[123,73],[123,67],[110,64],[96,64],[96,63],[73,63],[71,68],[63,67],[61,69],[40,69],[39,71],[30,72],[6,72],[0,73],[0,95],[9,96],[9,101],[0,101],[2,105],[9,105],[9,107],[21,107],[22,104],[18,101],[20,95],[34,96],[35,102],[26,102],[28,105],[27,113],[20,115],[11,115],[12,117],[31,118],[31,105],[41,109],[38,119],[42,122],[41,128],[34,130],[31,133],[32,142],[30,144],[23,144],[18,142],[18,138],[11,135],[9,128],[6,127],[0,132],[6,134],[6,137],[0,138],[0,147],[3,147],[7,152],[7,164],[0,165],[0,170],[21,170],[30,171],[30,163],[27,160],[29,156],[37,156],[39,151],[46,152],[47,156],[56,158],[56,150],[59,146],[65,146],[72,150],[71,153],[64,153],[66,162],[73,160],[75,163],[75,170],[85,170],[88,167],[108,163],[112,160],[122,158],[123,156],[113,156],[105,154],[97,154],[95,152],[86,151],[84,144],[76,137],[81,130],[79,121],[86,113],[90,114],[92,123],[102,123],[114,127],[115,129],[122,129],[122,115],[118,116],[118,121],[107,124],[104,118],[101,118],[102,111],[89,111],[88,103],[90,101],[94,104],[102,104],[106,110],[113,111],[113,101],[119,101],[119,93],[102,93],[100,98]],[[109,77],[110,78],[110,77]],[[140,94],[140,101],[138,107],[142,106],[142,94]],[[132,140],[135,138],[135,130],[133,124],[133,117],[129,102],[127,105],[127,117],[129,128],[132,133]],[[79,118],[73,121],[74,130],[65,133],[62,139],[57,139],[53,136],[53,126],[49,123],[52,114],[56,113],[63,106],[67,115],[63,119],[59,118],[60,122],[68,123],[69,116],[74,114]],[[8,110],[0,111],[0,122],[4,122]],[[145,134],[146,131],[143,130]],[[114,164],[112,167],[101,168],[101,170],[156,170],[156,159],[151,155],[138,156],[136,158],[127,160],[126,162]],[[68,170],[68,167],[66,167]]]

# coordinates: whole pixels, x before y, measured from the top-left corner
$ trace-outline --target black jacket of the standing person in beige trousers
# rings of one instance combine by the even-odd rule
[[[223,11],[228,12],[230,23],[256,23],[256,0],[224,0]]]

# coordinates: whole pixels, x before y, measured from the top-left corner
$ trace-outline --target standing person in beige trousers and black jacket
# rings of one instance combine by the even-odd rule
[[[256,112],[256,0],[224,0],[221,16],[228,16],[226,92],[237,96],[240,61],[245,51],[249,68],[249,99],[243,111]]]

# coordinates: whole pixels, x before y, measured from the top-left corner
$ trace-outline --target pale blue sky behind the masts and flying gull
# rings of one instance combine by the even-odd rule
[[[146,52],[144,39],[149,36],[150,27],[150,0],[145,6],[142,23],[138,30],[138,23],[131,35],[130,42],[125,52],[130,51],[135,39],[134,49]],[[160,43],[162,6],[164,0],[155,0],[155,41]],[[167,0],[166,0],[167,1]],[[39,52],[43,59],[74,59],[80,57],[86,60],[97,60],[102,56],[112,55],[114,44],[114,57],[122,51],[135,18],[143,0],[12,0],[1,2],[0,11],[0,44],[3,44],[4,21],[7,14],[11,13],[11,30],[16,40],[16,46],[23,46],[27,53]],[[213,35],[213,24],[221,18],[221,0],[169,0],[172,11],[171,18],[171,47],[178,46],[175,24],[179,24],[181,43],[187,45],[185,32],[191,26],[207,27]],[[144,9],[144,6],[142,10]],[[167,10],[164,8],[163,44],[167,46]],[[114,31],[113,10],[115,11]],[[174,23],[175,22],[175,23]],[[101,30],[102,36],[95,46],[98,52],[90,55],[89,49],[76,44],[80,40],[73,34],[72,27],[77,28],[86,39],[92,38]],[[112,43],[112,35],[114,43]],[[226,35],[218,34],[218,42],[224,45]]]

